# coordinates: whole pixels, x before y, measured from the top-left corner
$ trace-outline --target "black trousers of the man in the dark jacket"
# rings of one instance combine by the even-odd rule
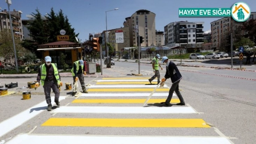
[[[180,90],[179,90],[179,83],[180,83],[180,80],[171,85],[171,88],[169,90],[169,95],[168,95],[168,97],[165,101],[165,104],[167,104],[167,105],[170,104],[174,91],[175,91],[176,95],[179,97],[180,102],[185,103],[184,100],[183,100],[183,97],[180,93]]]

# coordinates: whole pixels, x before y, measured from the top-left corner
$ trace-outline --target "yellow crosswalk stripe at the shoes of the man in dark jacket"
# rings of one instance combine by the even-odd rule
[[[150,99],[148,103],[160,103],[166,99]],[[145,99],[75,99],[72,103],[144,103]],[[179,103],[179,99],[171,99],[171,103]]]

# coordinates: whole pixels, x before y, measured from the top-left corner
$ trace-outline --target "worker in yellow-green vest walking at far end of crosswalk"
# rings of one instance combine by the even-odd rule
[[[160,83],[160,73],[158,70],[158,66],[161,67],[161,70],[163,70],[163,67],[159,64],[159,59],[160,59],[160,55],[157,54],[153,60],[152,60],[152,67],[153,67],[153,72],[155,73],[155,75],[153,75],[152,78],[149,79],[149,82],[151,83],[152,80],[154,80],[157,77],[157,84]],[[152,84],[152,83],[151,83]]]

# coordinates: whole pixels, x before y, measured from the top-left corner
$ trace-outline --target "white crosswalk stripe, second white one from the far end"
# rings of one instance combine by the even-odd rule
[[[155,88],[157,85],[92,85],[88,88]],[[163,87],[167,87],[166,85]]]

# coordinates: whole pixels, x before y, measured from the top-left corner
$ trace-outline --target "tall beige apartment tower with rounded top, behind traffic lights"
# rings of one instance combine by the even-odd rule
[[[144,42],[141,47],[154,45],[155,42],[155,13],[141,9],[125,18],[124,27],[129,27],[130,46],[137,45],[137,30]]]

